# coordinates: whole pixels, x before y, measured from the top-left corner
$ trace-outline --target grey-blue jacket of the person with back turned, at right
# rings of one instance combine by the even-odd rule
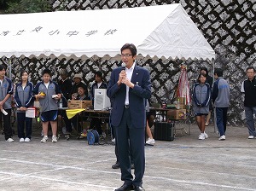
[[[213,84],[212,101],[214,107],[230,106],[230,85],[222,77],[218,77]]]

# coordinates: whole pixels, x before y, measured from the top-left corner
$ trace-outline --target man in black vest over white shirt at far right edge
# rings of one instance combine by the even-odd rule
[[[244,109],[246,123],[249,131],[248,139],[256,138],[253,113],[256,115],[256,71],[253,67],[247,67],[247,79],[241,84],[241,93],[244,95]]]

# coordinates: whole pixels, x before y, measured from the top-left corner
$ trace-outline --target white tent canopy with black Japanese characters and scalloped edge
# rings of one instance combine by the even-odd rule
[[[119,55],[125,43],[150,57],[215,58],[180,4],[126,9],[0,14],[0,57]]]

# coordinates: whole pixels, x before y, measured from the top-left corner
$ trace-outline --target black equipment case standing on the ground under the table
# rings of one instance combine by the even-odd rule
[[[154,139],[160,141],[174,140],[174,124],[169,122],[155,122],[154,123]]]

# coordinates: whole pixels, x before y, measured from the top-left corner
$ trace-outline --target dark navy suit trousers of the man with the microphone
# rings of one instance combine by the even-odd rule
[[[141,186],[145,171],[145,127],[132,126],[130,108],[125,108],[119,126],[115,127],[115,132],[121,180],[127,184]],[[134,180],[131,174],[131,155],[134,162]]]

